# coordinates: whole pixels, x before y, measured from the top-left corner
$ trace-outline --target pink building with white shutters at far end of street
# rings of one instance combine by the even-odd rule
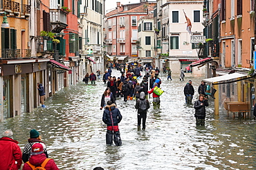
[[[107,18],[107,54],[116,56],[118,61],[125,57],[138,57],[138,20],[149,14],[156,3],[140,1],[121,5],[117,2],[115,10],[106,14]]]

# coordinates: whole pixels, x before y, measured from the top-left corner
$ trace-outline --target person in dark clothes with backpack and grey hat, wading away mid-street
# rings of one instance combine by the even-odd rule
[[[143,119],[143,130],[146,129],[147,109],[149,109],[149,100],[145,98],[145,93],[140,92],[140,98],[136,101],[135,108],[138,109],[138,131],[140,131],[141,118]]]

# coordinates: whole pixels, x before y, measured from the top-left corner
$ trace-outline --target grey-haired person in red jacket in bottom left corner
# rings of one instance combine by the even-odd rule
[[[22,164],[21,149],[17,145],[19,142],[12,139],[12,131],[3,132],[0,138],[0,169],[18,170]]]

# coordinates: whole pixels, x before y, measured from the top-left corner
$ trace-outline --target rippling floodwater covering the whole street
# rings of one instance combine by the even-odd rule
[[[196,127],[193,105],[186,105],[183,95],[189,77],[161,79],[161,109],[151,104],[145,131],[137,131],[135,101],[116,101],[123,116],[120,147],[105,145],[102,81],[65,88],[48,98],[46,108],[0,123],[0,132],[12,129],[23,150],[30,129],[37,129],[60,169],[256,169],[254,120],[234,119],[225,111],[214,116],[211,99],[205,127]],[[202,78],[190,79],[197,91]]]

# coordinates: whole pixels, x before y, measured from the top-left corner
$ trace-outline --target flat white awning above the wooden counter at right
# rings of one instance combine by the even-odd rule
[[[242,81],[247,78],[250,78],[250,76],[248,76],[246,74],[232,73],[232,74],[226,74],[224,76],[216,76],[216,77],[212,77],[212,78],[206,78],[206,79],[203,79],[203,81],[212,83],[214,85],[218,85],[218,84],[222,84],[224,81],[229,81],[227,83],[232,83],[235,81]]]

